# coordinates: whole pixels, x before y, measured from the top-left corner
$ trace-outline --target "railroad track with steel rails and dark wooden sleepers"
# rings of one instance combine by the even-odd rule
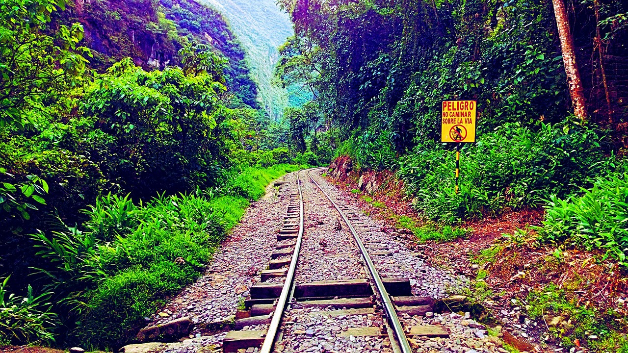
[[[277,234],[276,250],[271,255],[268,269],[261,273],[262,283],[251,287],[251,295],[244,301],[244,310],[236,315],[234,330],[225,336],[224,352],[327,352],[334,350],[335,341],[342,341],[344,345],[342,342],[340,345],[343,347],[349,345],[355,349],[346,351],[410,353],[413,350],[409,335],[446,337],[447,331],[442,328],[430,328],[433,332],[413,332],[399,320],[403,313],[412,316],[433,312],[433,299],[413,296],[407,278],[382,278],[372,257],[389,253],[378,247],[376,240],[362,240],[354,227],[354,224],[360,224],[359,216],[325,192],[311,176],[316,169],[321,168],[297,172],[298,193],[290,195]],[[320,237],[310,236],[305,231],[305,188],[322,193],[328,205],[333,206],[332,211],[335,209],[340,216],[339,219],[320,220],[315,219],[315,214],[310,215],[315,219],[313,222],[318,222],[315,224],[337,222],[335,239],[329,239],[334,243],[330,247],[335,246],[335,249],[328,252],[337,256],[331,262],[349,264],[348,277],[352,278],[338,275],[342,278],[310,280],[320,274],[311,276],[308,261],[328,257],[328,245],[325,237],[317,243]],[[323,210],[318,211],[323,213]],[[327,215],[332,211],[327,210]],[[352,237],[354,248],[348,242],[342,242],[340,229]],[[330,266],[328,259],[318,262],[318,270],[332,271],[332,267],[325,267]],[[360,267],[357,264],[363,269],[357,269]],[[313,267],[316,271],[316,262]],[[329,274],[322,274],[323,278],[325,275]]]

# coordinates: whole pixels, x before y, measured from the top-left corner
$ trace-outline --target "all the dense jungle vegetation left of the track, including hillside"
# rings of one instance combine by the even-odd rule
[[[0,3],[0,345],[120,347],[191,283],[291,148],[193,0]]]

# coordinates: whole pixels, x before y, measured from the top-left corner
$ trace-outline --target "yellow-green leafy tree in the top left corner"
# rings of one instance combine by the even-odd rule
[[[91,55],[78,46],[83,27],[60,26],[49,35],[47,24],[64,0],[4,0],[0,3],[0,126],[32,123],[28,110],[50,104],[77,84]]]

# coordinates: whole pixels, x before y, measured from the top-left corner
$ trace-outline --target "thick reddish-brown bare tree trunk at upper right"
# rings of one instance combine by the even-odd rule
[[[563,62],[567,73],[567,83],[571,102],[573,103],[573,114],[583,121],[587,119],[587,107],[585,106],[585,94],[576,62],[576,53],[573,48],[573,37],[569,28],[565,3],[563,0],[552,0],[554,4],[554,14],[556,15],[556,25],[558,26],[558,36],[563,50]]]

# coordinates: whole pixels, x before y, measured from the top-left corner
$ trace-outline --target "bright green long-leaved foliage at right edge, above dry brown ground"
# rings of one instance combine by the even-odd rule
[[[580,195],[551,195],[543,226],[544,242],[566,242],[587,250],[601,249],[606,256],[628,266],[628,174],[598,177]]]

